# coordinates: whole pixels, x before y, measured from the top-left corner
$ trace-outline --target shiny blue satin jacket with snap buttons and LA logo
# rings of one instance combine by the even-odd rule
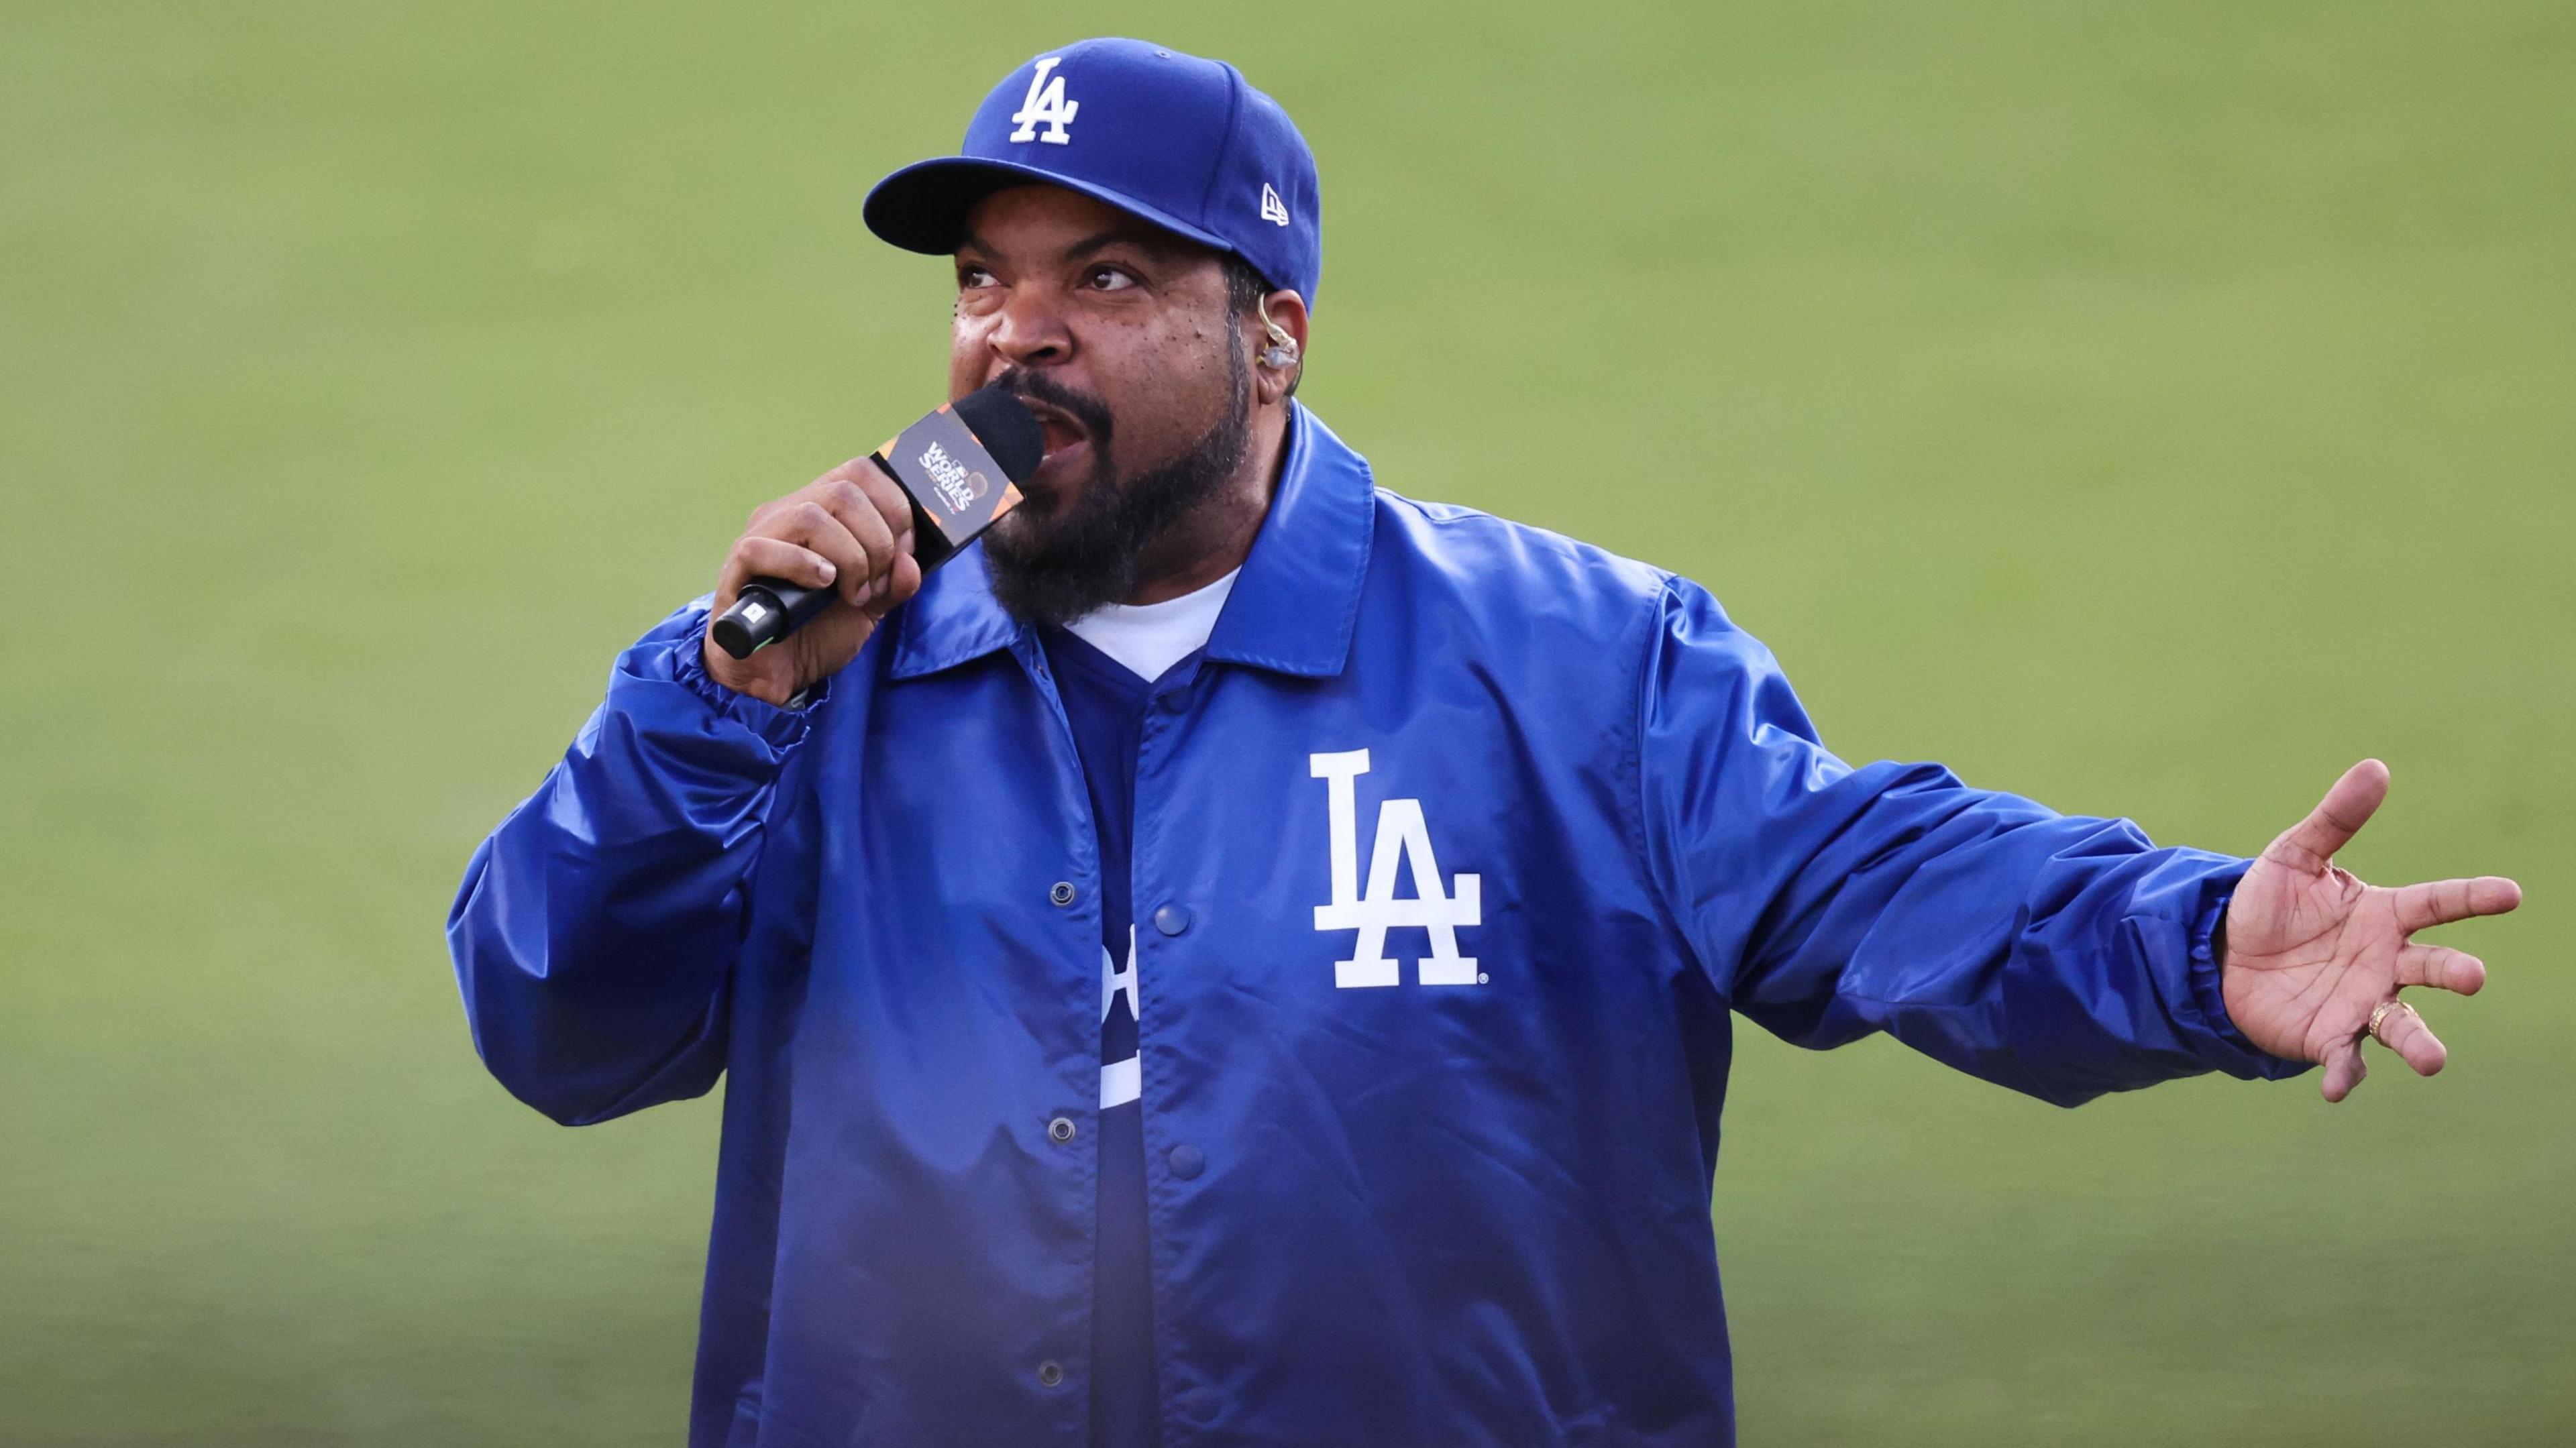
[[[667,618],[448,917],[528,1105],[729,1080],[696,1448],[1084,1440],[1097,853],[979,562],[801,711]],[[2069,1105],[2298,1069],[2218,997],[2246,861],[1850,768],[1700,587],[1311,412],[1206,657],[1136,768],[1170,1448],[1728,1443],[1728,1013]]]

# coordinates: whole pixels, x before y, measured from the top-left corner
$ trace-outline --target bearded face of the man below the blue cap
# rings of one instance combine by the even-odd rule
[[[1046,430],[1028,502],[984,536],[994,595],[1064,624],[1244,461],[1252,376],[1226,268],[1090,196],[1018,186],[966,216],[948,394],[1020,394]]]

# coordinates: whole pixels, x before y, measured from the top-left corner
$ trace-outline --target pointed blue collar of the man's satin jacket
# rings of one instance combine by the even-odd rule
[[[1306,678],[1342,672],[1368,575],[1373,490],[1368,459],[1291,402],[1278,492],[1208,636],[1211,660]],[[1028,634],[994,603],[981,544],[966,551],[902,608],[894,678],[953,670]]]

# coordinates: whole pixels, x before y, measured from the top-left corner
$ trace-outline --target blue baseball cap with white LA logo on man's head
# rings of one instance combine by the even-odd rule
[[[1314,152],[1288,111],[1221,59],[1118,39],[1033,57],[976,106],[958,155],[878,180],[860,214],[904,250],[948,255],[976,201],[1033,180],[1234,252],[1314,307]]]

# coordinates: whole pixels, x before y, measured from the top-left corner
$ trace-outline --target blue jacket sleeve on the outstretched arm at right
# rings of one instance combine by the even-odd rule
[[[1656,889],[1718,992],[1785,1041],[1886,1031],[2058,1105],[2306,1069],[2251,1046],[2218,995],[2213,935],[2249,861],[1940,765],[1855,770],[1770,649],[1682,580],[1646,647],[1638,776]]]

